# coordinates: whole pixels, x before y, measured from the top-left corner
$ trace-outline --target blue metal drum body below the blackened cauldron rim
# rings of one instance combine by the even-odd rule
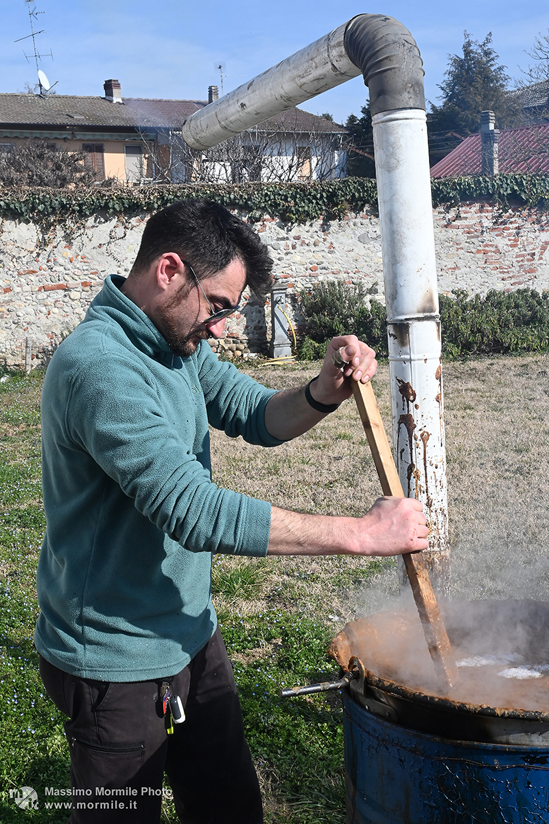
[[[417,733],[343,696],[347,824],[547,824],[549,747]]]

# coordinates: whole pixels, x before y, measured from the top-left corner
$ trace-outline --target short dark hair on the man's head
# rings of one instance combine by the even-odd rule
[[[257,295],[268,292],[272,259],[254,229],[228,209],[210,200],[179,200],[153,214],[143,232],[132,267],[144,272],[165,252],[188,261],[198,279],[211,277],[238,258],[246,270],[246,283]]]

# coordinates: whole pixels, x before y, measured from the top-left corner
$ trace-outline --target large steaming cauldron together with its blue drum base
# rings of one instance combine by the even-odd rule
[[[413,608],[333,640],[357,675],[343,695],[347,822],[547,824],[549,603],[452,602],[443,614],[461,664],[452,695],[437,695]]]

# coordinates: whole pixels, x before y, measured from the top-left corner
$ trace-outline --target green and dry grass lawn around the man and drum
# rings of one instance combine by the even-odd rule
[[[549,356],[449,363],[444,371],[454,596],[549,594]],[[251,365],[268,386],[300,385],[316,364]],[[35,567],[44,534],[40,490],[42,373],[0,383],[0,822],[65,822],[44,789],[68,787],[63,716],[37,671],[32,634]],[[388,367],[375,380],[389,427]],[[317,428],[272,450],[212,433],[216,483],[277,506],[364,512],[379,483],[353,401]],[[269,824],[343,824],[341,710],[337,696],[281,700],[280,686],[326,680],[325,654],[342,625],[398,592],[392,560],[218,556],[215,603],[235,664],[250,747]],[[36,811],[9,790],[30,786]],[[164,821],[176,821],[170,802]]]

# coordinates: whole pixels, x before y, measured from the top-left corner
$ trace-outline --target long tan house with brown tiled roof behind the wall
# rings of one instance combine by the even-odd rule
[[[28,138],[51,148],[86,152],[97,180],[128,183],[314,180],[345,176],[345,130],[330,120],[292,109],[209,152],[192,152],[181,125],[216,100],[122,97],[118,80],[105,96],[0,94],[0,151]]]

